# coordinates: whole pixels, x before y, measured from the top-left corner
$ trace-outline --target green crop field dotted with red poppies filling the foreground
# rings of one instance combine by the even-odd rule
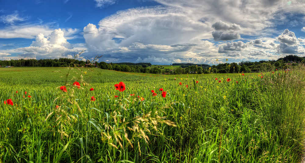
[[[305,68],[0,68],[0,162],[300,162]]]

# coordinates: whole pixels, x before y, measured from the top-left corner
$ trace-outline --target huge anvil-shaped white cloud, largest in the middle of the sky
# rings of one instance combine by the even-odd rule
[[[172,7],[119,11],[98,26],[89,23],[83,31],[88,51],[102,54],[105,61],[138,62],[141,58],[144,62],[149,56],[156,62],[171,63],[215,48],[203,40],[211,37],[210,24]]]

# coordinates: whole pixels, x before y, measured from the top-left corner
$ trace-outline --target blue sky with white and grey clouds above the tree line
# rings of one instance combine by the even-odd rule
[[[305,56],[303,0],[0,0],[0,60],[225,62]],[[218,59],[218,62],[216,62]]]

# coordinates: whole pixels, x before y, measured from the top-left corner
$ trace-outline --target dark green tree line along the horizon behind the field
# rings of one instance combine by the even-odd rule
[[[19,59],[1,61],[0,66],[14,66],[14,67],[67,67],[70,66],[72,59],[59,58],[59,59]],[[298,64],[304,64],[305,57],[299,57],[297,55],[287,55],[277,60],[262,60],[259,62],[242,61],[239,63],[220,63],[218,65],[206,65],[206,64],[192,64],[192,63],[173,63],[172,66],[180,66],[175,70],[160,69],[153,67],[151,63],[106,63],[95,62],[95,65],[88,65],[89,62],[75,60],[74,63],[80,67],[95,67],[98,66],[101,69],[109,69],[124,72],[136,72],[136,73],[155,73],[155,74],[201,74],[201,73],[251,73],[251,72],[264,72],[274,69],[289,69],[292,66]],[[87,65],[86,65],[87,64]]]

